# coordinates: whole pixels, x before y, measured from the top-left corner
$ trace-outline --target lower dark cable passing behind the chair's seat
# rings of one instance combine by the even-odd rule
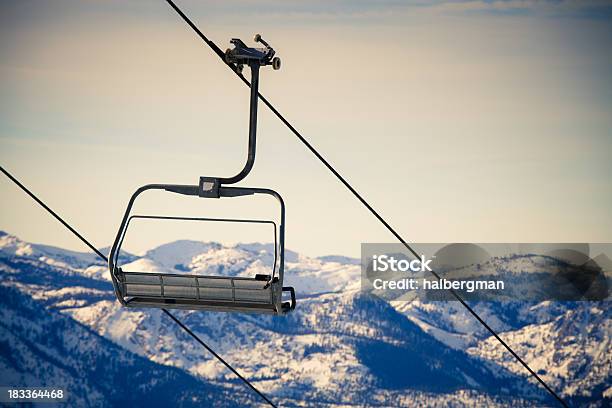
[[[98,255],[105,262],[108,262],[108,258],[99,249],[93,246],[85,237],[83,237],[77,230],[72,228],[70,224],[68,224],[62,217],[60,217],[55,211],[53,211],[47,204],[45,204],[40,198],[38,198],[32,191],[30,191],[26,186],[24,186],[19,180],[17,180],[11,173],[9,173],[4,167],[0,166],[0,171],[4,173],[6,177],[8,177],[13,183],[15,183],[20,189],[22,189],[27,195],[29,195],[34,201],[36,201],[41,207],[43,207],[49,214],[51,214],[56,220],[58,220],[64,227],[66,227],[70,232],[76,235],[85,245],[89,247],[96,255]],[[209,345],[207,345],[197,334],[192,332],[189,327],[187,327],[183,322],[181,322],[176,316],[170,313],[167,309],[162,309],[162,311],[167,314],[176,324],[178,324],[187,334],[195,339],[198,343],[200,343],[206,350],[210,352],[217,360],[219,360],[223,365],[225,365],[232,373],[236,375],[236,377],[240,378],[251,390],[253,390],[257,395],[259,395],[266,403],[268,403],[271,407],[276,408],[276,405],[268,399],[261,391],[259,391],[249,380],[244,378],[234,367],[232,367],[227,361],[223,359],[219,354],[217,354]]]

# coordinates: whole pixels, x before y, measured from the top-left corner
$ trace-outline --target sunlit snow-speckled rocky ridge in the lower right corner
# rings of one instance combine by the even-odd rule
[[[587,402],[593,394],[612,392],[610,334],[612,313],[606,305],[580,302],[562,315],[541,325],[526,325],[504,333],[502,338],[531,362],[544,380],[576,402]],[[468,350],[499,362],[513,372],[522,369],[500,353],[491,338]],[[572,373],[570,375],[570,373]]]

